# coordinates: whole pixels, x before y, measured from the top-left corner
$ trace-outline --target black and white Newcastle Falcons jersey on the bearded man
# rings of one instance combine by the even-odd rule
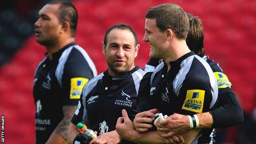
[[[117,77],[108,75],[108,71],[99,74],[85,85],[71,122],[75,125],[82,122],[101,135],[116,129],[123,109],[133,120],[137,114],[136,99],[143,75],[144,70],[138,66]]]

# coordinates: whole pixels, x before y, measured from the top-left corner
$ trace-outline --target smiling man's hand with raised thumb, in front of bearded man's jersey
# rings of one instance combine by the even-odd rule
[[[126,110],[122,110],[123,117],[117,119],[116,131],[121,138],[133,141],[139,133],[135,130],[133,122],[129,119]]]

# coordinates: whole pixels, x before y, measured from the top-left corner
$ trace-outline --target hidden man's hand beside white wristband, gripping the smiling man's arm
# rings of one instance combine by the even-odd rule
[[[189,130],[189,119],[186,115],[173,114],[157,124],[158,131],[168,132],[163,134],[162,137],[171,137],[176,134],[181,134]]]

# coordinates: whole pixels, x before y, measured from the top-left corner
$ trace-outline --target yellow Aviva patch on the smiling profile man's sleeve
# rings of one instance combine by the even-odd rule
[[[182,109],[201,113],[203,111],[204,93],[205,91],[200,89],[187,90]]]

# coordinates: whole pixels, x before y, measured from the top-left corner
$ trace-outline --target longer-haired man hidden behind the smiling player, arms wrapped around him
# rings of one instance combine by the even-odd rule
[[[223,73],[219,64],[209,59],[208,56],[205,56],[203,47],[203,24],[201,19],[197,16],[192,16],[192,14],[187,14],[187,16],[190,20],[190,29],[186,38],[187,46],[190,50],[194,51],[194,53],[206,60],[210,65],[211,69],[215,73],[219,88],[218,108],[211,110],[210,112],[197,114],[200,123],[199,128],[227,128],[235,126],[243,121],[243,114],[231,88],[231,82],[229,82],[229,79]],[[155,108],[155,98],[149,96],[150,77],[153,73],[150,72],[152,71],[150,68],[154,69],[158,66],[158,61],[158,59],[150,59],[145,70],[149,72],[146,73],[141,80],[137,99],[137,105],[140,109],[139,111],[147,111]],[[147,105],[145,105],[145,103]],[[167,123],[166,121],[169,122]],[[161,133],[165,133],[163,137],[170,138],[170,136],[174,134],[184,133],[186,130],[189,130],[189,121],[186,115],[176,113],[171,115],[169,119],[166,119],[166,121],[161,121],[160,124],[162,125],[162,128],[158,129],[162,131]],[[142,123],[141,118],[139,117],[135,119],[134,125],[136,130],[139,132],[144,132],[149,128],[145,127],[145,124]]]

